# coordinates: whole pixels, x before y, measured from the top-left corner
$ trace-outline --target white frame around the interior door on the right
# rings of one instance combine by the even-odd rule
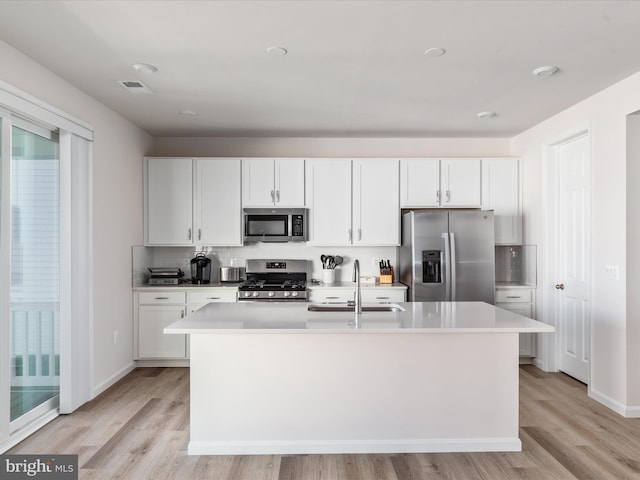
[[[566,133],[559,136],[557,139],[550,141],[543,146],[543,219],[544,219],[544,245],[542,250],[542,261],[544,273],[542,278],[542,285],[538,286],[538,293],[541,296],[542,312],[544,314],[543,321],[556,327],[556,333],[539,334],[538,337],[538,356],[535,359],[535,364],[542,370],[549,372],[557,372],[559,366],[560,349],[558,348],[558,319],[557,319],[557,295],[555,295],[555,284],[557,280],[556,265],[558,265],[558,259],[556,258],[557,249],[553,247],[557,242],[557,205],[558,205],[558,175],[557,175],[557,147],[576,140],[580,137],[587,136],[591,142],[591,127],[584,126],[583,128],[577,128],[571,133]],[[591,148],[593,151],[593,148]],[[588,211],[591,212],[591,202],[593,198],[593,155],[589,156],[589,178],[590,178],[590,192],[589,192],[589,207]],[[592,225],[589,225],[588,231],[591,232]],[[591,261],[591,235],[589,238],[589,259]],[[588,266],[589,272],[589,298],[593,298],[593,281],[591,279],[591,265]],[[590,315],[590,318],[592,316]],[[591,325],[589,326],[591,329]],[[591,344],[589,345],[591,349]],[[589,354],[589,358],[591,355]],[[589,366],[591,368],[591,365]],[[590,376],[590,375],[589,375]]]

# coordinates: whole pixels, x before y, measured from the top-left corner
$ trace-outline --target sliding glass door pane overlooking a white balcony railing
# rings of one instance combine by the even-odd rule
[[[60,148],[11,127],[11,429],[57,407],[60,389]]]

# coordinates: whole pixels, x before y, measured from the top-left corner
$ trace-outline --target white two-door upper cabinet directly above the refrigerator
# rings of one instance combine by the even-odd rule
[[[479,158],[406,158],[400,160],[402,208],[479,208]]]

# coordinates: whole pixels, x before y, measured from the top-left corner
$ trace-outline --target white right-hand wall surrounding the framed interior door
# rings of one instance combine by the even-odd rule
[[[592,139],[592,356],[590,394],[612,408],[629,413],[640,409],[637,364],[627,345],[632,338],[627,305],[637,301],[637,284],[628,283],[626,266],[638,261],[627,254],[627,204],[640,197],[638,184],[626,189],[627,115],[640,109],[640,73],[576,104],[512,139],[514,156],[523,159],[525,243],[540,246],[538,278],[544,279],[544,162],[543,151],[589,128]],[[640,220],[636,220],[640,221]],[[629,251],[637,245],[629,245]],[[618,265],[620,279],[605,277],[605,265]],[[552,293],[552,282],[539,287],[539,296]],[[628,297],[627,297],[628,295]],[[542,311],[542,310],[538,310]],[[540,316],[539,316],[540,318]],[[541,318],[544,320],[544,318]],[[636,410],[640,414],[640,410]]]

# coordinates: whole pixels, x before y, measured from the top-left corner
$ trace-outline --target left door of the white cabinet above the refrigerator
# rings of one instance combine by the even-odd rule
[[[440,205],[440,160],[403,158],[400,160],[400,206]]]

